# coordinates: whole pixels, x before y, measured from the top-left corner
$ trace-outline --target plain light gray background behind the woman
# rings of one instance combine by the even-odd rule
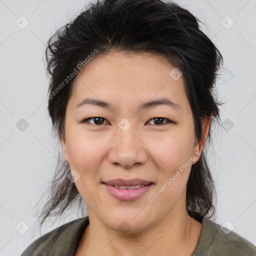
[[[218,191],[216,222],[228,220],[233,231],[256,245],[256,2],[176,2],[208,25],[204,31],[232,73],[223,70],[218,96],[227,100],[220,107],[221,120],[228,118],[233,127],[217,130],[216,154],[209,156]],[[84,0],[0,0],[0,255],[20,255],[40,235],[34,233],[35,205],[57,155],[46,111],[48,81],[42,57],[50,35],[83,5]],[[24,29],[15,24],[21,15],[29,21]],[[229,29],[222,25],[231,24],[223,19],[226,15],[234,21]],[[28,122],[23,131],[16,127],[21,118]],[[78,217],[68,213],[55,223],[48,221],[42,233]],[[15,229],[21,220],[29,226],[24,234]]]

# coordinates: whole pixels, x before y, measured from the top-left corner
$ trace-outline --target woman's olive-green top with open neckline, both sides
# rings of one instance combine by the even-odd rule
[[[21,256],[73,256],[89,224],[88,216],[65,223],[33,241]],[[100,251],[96,252],[102,255]],[[256,247],[208,218],[202,220],[199,242],[191,256],[252,256]],[[177,255],[178,256],[178,255]]]

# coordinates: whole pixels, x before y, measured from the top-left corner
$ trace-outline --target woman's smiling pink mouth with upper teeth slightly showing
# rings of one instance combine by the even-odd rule
[[[154,185],[153,182],[142,179],[113,179],[101,183],[111,196],[124,201],[138,199]]]

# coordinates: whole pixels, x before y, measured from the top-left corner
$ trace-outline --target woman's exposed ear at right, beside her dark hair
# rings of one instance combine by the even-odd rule
[[[204,115],[203,117],[200,117],[201,119],[201,123],[202,123],[202,138],[201,138],[201,145],[199,146],[199,142],[195,141],[195,145],[194,145],[194,155],[200,155],[202,153],[202,150],[204,148],[206,139],[207,139],[207,135],[209,133],[209,126],[210,126],[210,121],[211,121],[211,115]],[[195,157],[197,160],[199,159],[199,157]],[[197,161],[195,160],[194,163]]]

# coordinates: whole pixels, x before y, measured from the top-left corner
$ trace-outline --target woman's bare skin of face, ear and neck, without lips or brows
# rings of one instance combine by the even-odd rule
[[[193,156],[204,146],[210,117],[202,119],[204,139],[199,148],[183,77],[174,80],[169,75],[172,68],[158,55],[111,51],[92,59],[77,74],[61,138],[65,160],[80,175],[75,185],[90,221],[75,256],[191,255],[196,248],[201,223],[187,214],[186,183],[191,165],[199,159]],[[85,97],[112,106],[75,107]],[[159,98],[168,98],[180,108],[162,104],[139,107]],[[104,119],[97,124],[91,117]],[[157,122],[155,117],[174,123],[166,119]],[[91,119],[82,122],[86,118]],[[118,126],[123,118],[131,124],[126,131]],[[154,202],[149,201],[191,157],[189,167]],[[114,178],[140,178],[154,185],[138,199],[122,201],[101,183]],[[128,223],[127,232],[119,228],[123,221]]]

